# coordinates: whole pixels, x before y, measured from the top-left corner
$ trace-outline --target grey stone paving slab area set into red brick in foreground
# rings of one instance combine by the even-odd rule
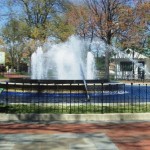
[[[1,150],[118,150],[104,134],[0,134]]]

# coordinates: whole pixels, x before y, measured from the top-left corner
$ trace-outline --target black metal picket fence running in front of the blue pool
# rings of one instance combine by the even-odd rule
[[[0,84],[0,111],[12,113],[124,113],[150,111],[147,84],[87,80],[22,80]]]

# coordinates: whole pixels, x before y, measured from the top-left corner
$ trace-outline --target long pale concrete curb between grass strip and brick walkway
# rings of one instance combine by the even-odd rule
[[[150,113],[113,114],[4,114],[0,121],[150,121]]]

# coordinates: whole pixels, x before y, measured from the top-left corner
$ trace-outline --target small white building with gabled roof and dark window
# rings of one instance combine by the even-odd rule
[[[113,59],[115,79],[150,79],[150,58],[127,49]]]

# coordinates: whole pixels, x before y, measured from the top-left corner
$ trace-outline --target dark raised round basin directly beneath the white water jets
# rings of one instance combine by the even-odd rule
[[[83,80],[33,80],[29,78],[11,78],[9,82],[1,83],[1,88],[27,90],[37,92],[88,92],[93,91],[117,91],[123,88],[123,84],[110,83],[106,79],[101,80],[86,80],[87,89]],[[88,90],[88,91],[86,91]]]

